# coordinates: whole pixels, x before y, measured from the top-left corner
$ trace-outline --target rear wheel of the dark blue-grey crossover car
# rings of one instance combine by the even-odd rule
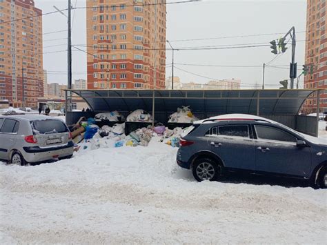
[[[204,180],[212,182],[221,177],[222,166],[211,158],[199,158],[193,164],[192,173],[198,182]]]

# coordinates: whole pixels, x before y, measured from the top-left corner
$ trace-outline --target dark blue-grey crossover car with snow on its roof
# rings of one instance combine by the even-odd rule
[[[199,182],[242,170],[327,187],[327,140],[263,117],[231,114],[195,121],[179,144],[177,164],[192,170]]]

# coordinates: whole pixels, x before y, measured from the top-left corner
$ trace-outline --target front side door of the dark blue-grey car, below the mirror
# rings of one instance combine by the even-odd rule
[[[298,147],[294,135],[274,126],[255,125],[255,133],[257,171],[308,177],[309,147]]]

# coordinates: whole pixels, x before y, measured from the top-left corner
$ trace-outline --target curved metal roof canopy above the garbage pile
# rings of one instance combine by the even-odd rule
[[[195,115],[210,117],[230,113],[297,115],[304,101],[319,90],[67,90],[82,97],[95,112],[143,109],[176,112],[190,106]]]

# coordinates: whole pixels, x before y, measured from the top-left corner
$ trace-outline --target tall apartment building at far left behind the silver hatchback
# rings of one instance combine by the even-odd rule
[[[33,0],[0,0],[0,99],[12,106],[43,97],[41,14]]]

